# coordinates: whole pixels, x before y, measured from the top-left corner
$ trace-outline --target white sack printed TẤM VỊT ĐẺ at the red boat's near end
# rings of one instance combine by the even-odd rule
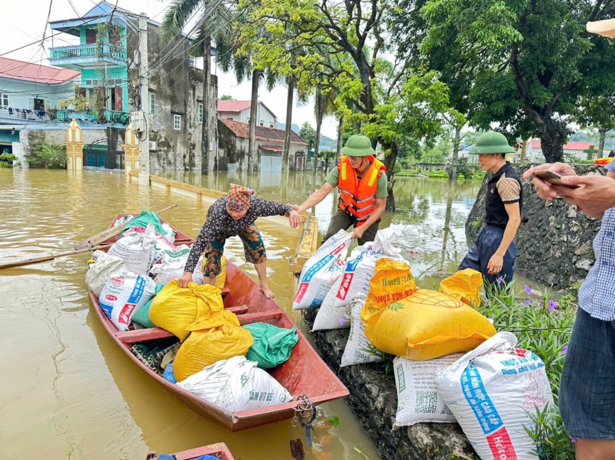
[[[231,412],[288,402],[292,396],[255,361],[245,356],[223,359],[177,383],[177,386]]]

